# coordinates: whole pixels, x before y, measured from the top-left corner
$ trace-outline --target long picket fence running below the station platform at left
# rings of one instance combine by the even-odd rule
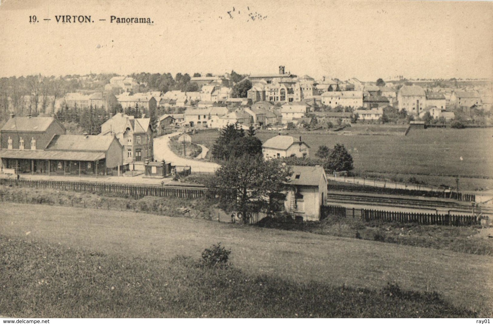
[[[84,181],[52,181],[52,180],[28,180],[0,178],[0,185],[12,187],[30,187],[37,189],[58,189],[70,191],[86,191],[97,193],[112,193],[129,195],[132,197],[155,196],[177,198],[199,198],[205,192],[205,187],[200,186],[159,186],[159,185],[134,185],[103,182]]]

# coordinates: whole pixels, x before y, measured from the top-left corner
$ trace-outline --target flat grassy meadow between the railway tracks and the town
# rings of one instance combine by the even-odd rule
[[[258,131],[257,137],[265,142],[277,134]],[[344,144],[357,173],[402,178],[404,182],[411,175],[423,175],[429,184],[452,187],[460,175],[462,190],[493,189],[493,128],[428,128],[411,130],[407,136],[300,134],[294,130],[282,134],[301,136],[310,145],[311,155],[318,146]],[[211,147],[217,136],[215,131],[199,132],[192,141]]]

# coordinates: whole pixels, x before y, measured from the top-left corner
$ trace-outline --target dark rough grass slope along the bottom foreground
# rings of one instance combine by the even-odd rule
[[[192,258],[71,250],[0,236],[0,309],[11,317],[473,318],[435,292],[295,283]]]

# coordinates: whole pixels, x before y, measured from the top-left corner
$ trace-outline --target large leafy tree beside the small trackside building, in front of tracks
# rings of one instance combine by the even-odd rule
[[[219,208],[240,212],[246,223],[251,213],[268,210],[269,196],[282,191],[291,174],[290,167],[278,159],[242,155],[221,165],[209,188]]]

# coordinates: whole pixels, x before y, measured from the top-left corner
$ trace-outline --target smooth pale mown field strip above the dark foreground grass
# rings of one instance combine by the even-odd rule
[[[9,237],[158,261],[197,257],[221,242],[248,276],[369,289],[396,282],[403,289],[437,291],[459,307],[493,309],[489,256],[129,211],[5,202],[2,207],[0,235]]]

